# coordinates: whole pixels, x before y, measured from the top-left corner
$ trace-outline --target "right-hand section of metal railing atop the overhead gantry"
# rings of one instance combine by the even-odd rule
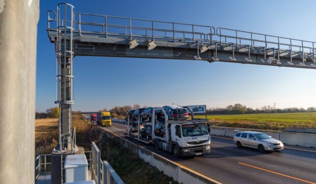
[[[217,28],[216,35],[219,37],[219,44],[221,46],[232,45],[236,47],[236,49],[248,46],[251,50],[264,51],[265,55],[267,52],[272,51],[273,56],[277,57],[278,60],[280,55],[287,53],[291,58],[291,63],[293,56],[300,56],[303,64],[307,58],[310,59],[314,65],[316,64],[316,42],[226,28]]]

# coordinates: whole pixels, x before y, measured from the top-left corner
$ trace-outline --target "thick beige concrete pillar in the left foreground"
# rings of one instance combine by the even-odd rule
[[[39,0],[0,0],[0,183],[34,183]]]

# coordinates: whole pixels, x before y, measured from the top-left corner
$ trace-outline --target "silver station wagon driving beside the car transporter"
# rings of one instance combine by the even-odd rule
[[[234,144],[239,148],[243,146],[256,148],[260,152],[284,149],[281,141],[261,132],[239,132],[234,135]]]

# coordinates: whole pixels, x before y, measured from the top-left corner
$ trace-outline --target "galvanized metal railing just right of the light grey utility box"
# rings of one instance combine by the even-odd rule
[[[96,184],[124,184],[111,165],[101,160],[100,153],[99,148],[92,142],[91,179]]]

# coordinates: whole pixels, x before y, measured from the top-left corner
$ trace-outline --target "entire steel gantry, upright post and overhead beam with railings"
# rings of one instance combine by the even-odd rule
[[[57,56],[60,149],[71,148],[74,56],[203,60],[316,69],[316,42],[208,25],[75,13],[70,4],[47,12]]]

